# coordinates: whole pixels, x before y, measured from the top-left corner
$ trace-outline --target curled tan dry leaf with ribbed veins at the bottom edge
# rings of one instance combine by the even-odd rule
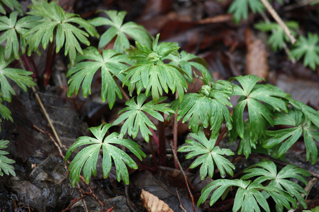
[[[141,199],[148,212],[173,212],[166,203],[144,189],[142,189]]]

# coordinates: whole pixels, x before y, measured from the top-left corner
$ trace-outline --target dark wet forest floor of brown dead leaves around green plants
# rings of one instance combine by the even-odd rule
[[[29,1],[21,2],[26,9]],[[313,71],[305,68],[300,61],[290,61],[284,50],[273,51],[267,44],[269,34],[254,28],[254,24],[263,20],[260,14],[250,13],[247,20],[234,23],[232,16],[227,13],[230,2],[231,0],[59,0],[59,5],[86,19],[96,16],[95,11],[98,9],[125,10],[128,12],[125,21],[142,24],[152,35],[160,33],[160,41],[178,42],[182,50],[203,57],[215,81],[255,74],[265,78],[266,83],[276,85],[291,94],[294,99],[318,110],[319,68]],[[319,33],[318,6],[302,6],[298,0],[285,2],[284,6],[273,2],[283,19],[298,21],[302,34],[307,34],[308,31]],[[97,29],[104,32],[106,28]],[[91,42],[94,45],[98,40],[93,39]],[[44,58],[45,53],[41,56],[34,55],[39,76],[43,74]],[[98,126],[103,122],[112,123],[118,117],[118,111],[124,108],[125,101],[117,100],[114,109],[110,111],[99,96],[99,76],[93,80],[96,83],[92,84],[91,96],[68,98],[68,62],[62,58],[62,55],[57,55],[49,85],[43,87],[39,83],[37,93],[62,141],[61,151],[65,154],[79,136],[89,135],[88,127]],[[201,84],[195,83],[188,92],[197,92],[200,88]],[[17,95],[7,104],[12,112],[13,123],[2,122],[0,139],[10,141],[6,151],[16,161],[16,176],[4,175],[0,179],[1,212],[53,212],[65,209],[72,212],[99,211],[99,201],[104,201],[106,210],[113,207],[115,212],[141,212],[145,211],[141,200],[142,189],[163,200],[174,212],[182,211],[180,204],[185,211],[193,211],[183,175],[179,169],[174,168],[174,158],[168,143],[172,139],[172,121],[165,123],[168,159],[166,167],[152,169],[155,164],[150,146],[140,142],[147,158],[140,162],[139,170],[131,170],[129,186],[122,181],[117,182],[115,169],[112,169],[107,179],[103,179],[101,167],[98,167],[98,174],[96,177],[92,176],[89,187],[80,182],[73,188],[35,93],[31,89],[26,93],[15,89]],[[236,100],[232,99],[231,103],[235,106]],[[186,123],[178,123],[179,145],[189,132]],[[138,137],[137,140],[139,139]],[[316,144],[318,146],[318,142]],[[228,140],[222,139],[219,145],[223,148],[229,146]],[[237,144],[232,143],[229,148],[235,152]],[[305,162],[305,154],[304,142],[298,141],[287,153],[284,163],[295,164],[319,175],[319,164]],[[179,154],[178,158],[193,186],[192,194],[196,204],[202,188],[212,179],[201,181],[197,169],[188,169],[192,161],[185,160],[183,154]],[[267,155],[255,154],[249,160],[237,157],[235,175],[240,175],[245,168],[262,158],[267,158]],[[307,180],[310,181],[311,178]],[[77,201],[78,198],[81,200]],[[219,201],[212,208],[202,205],[196,211],[231,211],[232,201],[233,199]],[[307,203],[310,208],[319,206],[318,182],[310,190]]]

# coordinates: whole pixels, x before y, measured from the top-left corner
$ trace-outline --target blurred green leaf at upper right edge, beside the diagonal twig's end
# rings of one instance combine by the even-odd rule
[[[319,41],[318,34],[308,33],[308,38],[301,36],[294,48],[291,50],[291,56],[297,60],[304,57],[304,66],[309,66],[313,70],[319,65]]]

